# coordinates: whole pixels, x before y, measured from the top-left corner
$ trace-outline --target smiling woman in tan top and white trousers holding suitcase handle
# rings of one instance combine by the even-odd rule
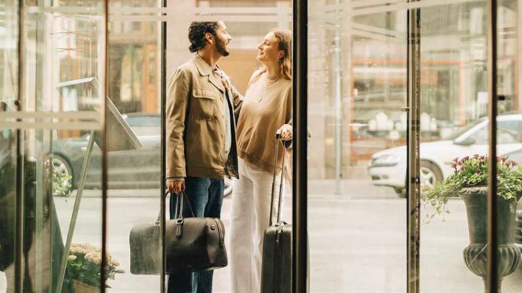
[[[250,79],[237,121],[239,179],[234,183],[230,267],[235,293],[260,292],[264,229],[269,226],[276,132],[292,139],[292,33],[274,29],[258,46],[262,69]],[[278,143],[277,172],[283,162]],[[280,175],[278,175],[278,182]],[[276,188],[278,190],[278,188]],[[276,202],[277,202],[276,195]],[[273,211],[277,213],[276,207]]]

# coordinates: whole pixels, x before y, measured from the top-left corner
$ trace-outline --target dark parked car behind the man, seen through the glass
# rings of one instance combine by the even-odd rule
[[[130,113],[122,115],[142,143],[138,150],[108,152],[108,188],[159,188],[160,114]],[[53,169],[60,176],[70,176],[71,188],[78,186],[89,134],[78,138],[53,141]],[[101,150],[94,145],[86,188],[101,186]],[[232,193],[232,180],[225,179],[225,195]]]

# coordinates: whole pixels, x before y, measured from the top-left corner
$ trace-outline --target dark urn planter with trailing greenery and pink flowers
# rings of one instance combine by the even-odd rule
[[[468,218],[469,246],[464,249],[466,266],[474,274],[487,278],[487,156],[453,159],[453,174],[435,184],[432,190],[423,193],[425,204],[434,208],[428,214],[428,222],[435,215],[449,213],[446,208],[449,197],[458,195],[466,204]],[[522,168],[507,157],[497,161],[498,200],[498,292],[502,278],[512,274],[520,262],[520,250],[514,245],[516,229],[516,204],[522,195]]]

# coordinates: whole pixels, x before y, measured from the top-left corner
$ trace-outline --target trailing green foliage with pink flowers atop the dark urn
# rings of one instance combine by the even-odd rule
[[[496,161],[497,195],[510,201],[514,213],[522,194],[522,168],[507,157],[497,157]],[[458,195],[463,188],[487,187],[488,162],[487,156],[478,154],[453,159],[453,174],[437,182],[431,190],[424,190],[422,195],[424,205],[430,204],[434,209],[433,213],[426,215],[428,222],[435,215],[441,215],[444,220],[444,215],[449,213],[446,208],[448,199]]]

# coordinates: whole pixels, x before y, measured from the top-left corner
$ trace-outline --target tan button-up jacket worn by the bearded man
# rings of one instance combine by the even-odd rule
[[[228,157],[225,157],[227,115],[223,103],[228,104],[232,128]],[[235,121],[242,103],[237,89],[232,86],[225,89],[197,53],[176,69],[168,82],[167,178],[239,177]]]

